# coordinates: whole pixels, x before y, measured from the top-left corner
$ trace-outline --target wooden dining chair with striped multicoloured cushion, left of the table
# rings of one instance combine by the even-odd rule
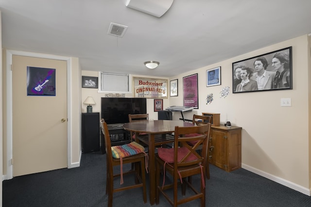
[[[108,207],[112,207],[112,200],[113,200],[113,193],[122,191],[122,190],[131,190],[134,188],[140,188],[142,187],[142,193],[143,193],[143,201],[144,203],[147,202],[147,195],[146,195],[146,177],[145,177],[145,153],[143,153],[143,147],[138,143],[132,143],[134,144],[131,145],[131,143],[126,144],[127,146],[124,146],[122,149],[127,149],[131,148],[131,151],[137,151],[137,148],[142,149],[141,153],[138,153],[136,155],[129,155],[123,157],[121,153],[118,153],[118,156],[121,158],[114,158],[113,156],[116,153],[116,148],[111,147],[111,142],[110,142],[110,136],[109,136],[109,131],[106,122],[104,122],[104,119],[101,119],[100,121],[101,124],[101,129],[104,134],[104,140],[105,140],[105,150],[106,150],[106,194],[108,194]],[[121,148],[121,146],[118,146]],[[113,153],[114,152],[114,153]],[[123,152],[123,154],[126,154],[126,152]],[[133,153],[132,153],[133,154]],[[131,169],[130,171],[127,171],[125,173],[122,172],[122,164],[127,164],[127,163],[135,163],[134,169]],[[120,166],[121,167],[121,173],[114,174],[113,172],[113,167],[114,166]],[[134,173],[135,174],[135,184],[131,186],[126,186],[126,187],[119,187],[119,188],[114,188],[114,178],[115,177],[120,177],[121,178],[121,184],[123,182],[123,175],[125,174],[130,174]]]

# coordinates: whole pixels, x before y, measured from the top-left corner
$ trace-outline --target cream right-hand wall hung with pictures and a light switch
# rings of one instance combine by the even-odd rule
[[[293,90],[232,93],[232,63],[260,54],[293,47]],[[238,48],[237,48],[238,50]],[[208,58],[208,57],[207,57]],[[221,66],[221,86],[206,86],[206,70]],[[178,97],[170,105],[183,103],[183,77],[198,73],[199,109],[184,113],[220,113],[221,123],[231,121],[242,129],[242,167],[310,195],[310,43],[308,35],[249,52],[213,65],[192,70],[178,78]],[[230,94],[220,98],[223,87]],[[206,104],[212,93],[214,101]],[[291,98],[292,107],[281,107],[281,98]],[[180,118],[179,113],[173,119]]]

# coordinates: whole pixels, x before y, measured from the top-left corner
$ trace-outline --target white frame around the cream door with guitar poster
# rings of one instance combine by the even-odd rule
[[[22,52],[22,51],[6,51],[6,120],[7,120],[7,157],[6,157],[6,165],[7,165],[7,173],[4,179],[12,179],[13,178],[13,75],[12,75],[12,57],[13,55],[21,55],[28,57],[38,57],[38,58],[46,58],[53,60],[64,60],[67,61],[67,167],[75,167],[71,165],[71,57],[67,56],[59,56],[59,55],[51,55],[51,54],[43,54],[43,53],[35,53],[35,52]]]

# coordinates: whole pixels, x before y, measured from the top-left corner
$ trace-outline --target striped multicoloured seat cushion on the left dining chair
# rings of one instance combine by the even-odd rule
[[[127,157],[131,155],[136,155],[138,153],[144,152],[144,147],[133,141],[129,144],[123,144],[121,146],[111,147],[112,156],[114,158]]]

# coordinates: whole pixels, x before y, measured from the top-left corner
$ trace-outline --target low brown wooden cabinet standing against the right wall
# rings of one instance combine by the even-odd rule
[[[242,127],[212,125],[210,130],[209,162],[226,172],[241,168]]]

